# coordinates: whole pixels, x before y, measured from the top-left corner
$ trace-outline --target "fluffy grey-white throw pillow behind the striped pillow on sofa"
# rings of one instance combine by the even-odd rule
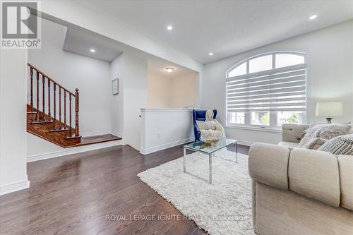
[[[321,138],[325,140],[330,140],[339,135],[349,134],[349,130],[352,126],[348,124],[318,124],[311,125],[304,131],[304,137],[301,138],[298,147],[313,147],[314,145],[320,143],[319,140],[316,140],[315,144],[312,144],[312,139]],[[322,143],[322,142],[321,142]]]

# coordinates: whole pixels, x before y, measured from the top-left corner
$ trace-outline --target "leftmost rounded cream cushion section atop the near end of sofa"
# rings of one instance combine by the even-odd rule
[[[249,174],[254,181],[288,190],[289,148],[254,143],[249,150]]]

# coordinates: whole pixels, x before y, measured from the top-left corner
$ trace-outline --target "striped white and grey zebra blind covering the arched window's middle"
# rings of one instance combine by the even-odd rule
[[[305,112],[306,65],[227,79],[227,112]]]

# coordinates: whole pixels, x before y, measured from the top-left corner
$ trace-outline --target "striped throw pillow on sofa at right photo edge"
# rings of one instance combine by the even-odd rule
[[[353,155],[353,134],[340,135],[328,140],[318,150],[334,155]]]

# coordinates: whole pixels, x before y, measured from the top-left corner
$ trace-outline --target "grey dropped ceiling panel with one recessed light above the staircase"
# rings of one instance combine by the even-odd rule
[[[73,52],[102,61],[112,61],[121,54],[121,51],[116,49],[114,42],[109,42],[102,37],[77,28],[67,29],[63,49],[66,52]],[[90,49],[95,49],[95,52],[90,52]]]

